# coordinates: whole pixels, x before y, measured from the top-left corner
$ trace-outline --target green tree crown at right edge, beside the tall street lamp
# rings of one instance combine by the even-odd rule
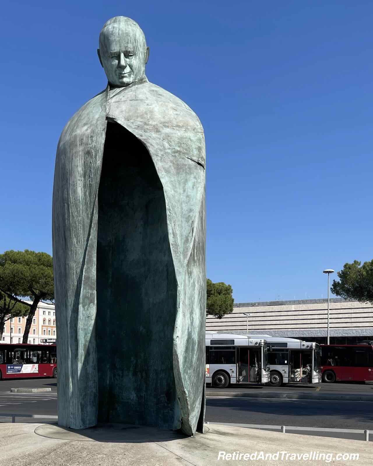
[[[331,287],[334,295],[373,304],[373,260],[363,265],[359,260],[347,262],[337,275],[339,280],[333,280]]]

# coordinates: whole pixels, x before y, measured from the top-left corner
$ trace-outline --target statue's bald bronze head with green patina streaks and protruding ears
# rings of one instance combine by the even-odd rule
[[[109,83],[125,87],[145,74],[149,48],[137,22],[126,16],[115,16],[101,29],[97,49]]]

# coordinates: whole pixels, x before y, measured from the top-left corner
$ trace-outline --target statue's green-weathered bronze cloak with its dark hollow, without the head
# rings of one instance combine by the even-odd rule
[[[69,120],[53,188],[59,425],[202,431],[205,223],[203,129],[179,98],[144,76]]]

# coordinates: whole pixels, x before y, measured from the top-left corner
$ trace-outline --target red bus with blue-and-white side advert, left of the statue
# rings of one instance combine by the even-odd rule
[[[56,346],[0,343],[0,380],[57,377]]]

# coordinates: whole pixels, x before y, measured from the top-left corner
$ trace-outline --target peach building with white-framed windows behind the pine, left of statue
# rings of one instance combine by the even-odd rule
[[[22,343],[25,325],[26,317],[13,317],[8,320],[0,343]],[[41,302],[31,324],[28,343],[41,344],[44,343],[43,340],[55,340],[56,337],[55,305]]]

